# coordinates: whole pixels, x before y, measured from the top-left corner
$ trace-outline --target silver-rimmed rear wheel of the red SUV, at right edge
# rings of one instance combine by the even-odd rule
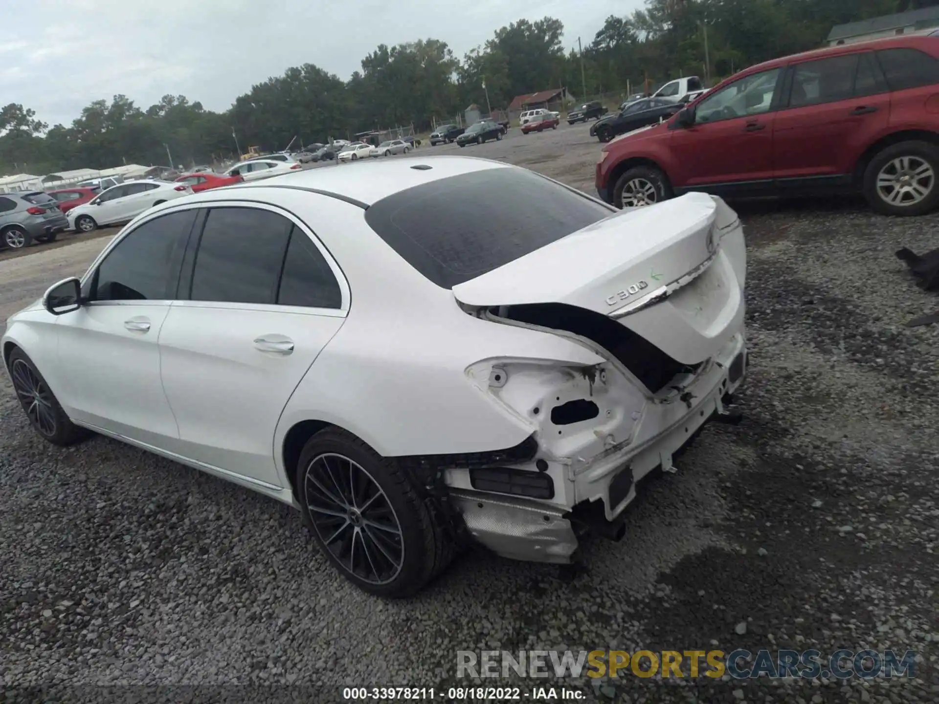
[[[939,148],[901,142],[874,156],[864,171],[864,197],[885,215],[923,215],[939,206]]]

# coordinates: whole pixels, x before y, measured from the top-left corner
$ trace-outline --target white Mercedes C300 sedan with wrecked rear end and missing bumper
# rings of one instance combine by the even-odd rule
[[[370,592],[454,549],[577,559],[747,366],[743,230],[498,161],[369,160],[134,219],[8,320],[36,431],[115,437],[292,504]]]

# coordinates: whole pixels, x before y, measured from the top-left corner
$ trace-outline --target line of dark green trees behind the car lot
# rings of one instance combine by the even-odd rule
[[[647,0],[631,15],[608,17],[579,47],[562,43],[563,25],[551,17],[500,27],[462,59],[435,38],[381,44],[347,81],[304,64],[253,85],[223,113],[185,96],[166,95],[143,110],[116,95],[91,102],[70,126],[50,128],[10,103],[0,109],[0,174],[167,164],[168,152],[191,165],[249,145],[283,149],[295,136],[295,144],[310,144],[399,125],[426,130],[472,103],[505,108],[516,95],[561,86],[586,99],[688,74],[709,73],[713,84],[821,46],[835,24],[934,5],[939,0]]]

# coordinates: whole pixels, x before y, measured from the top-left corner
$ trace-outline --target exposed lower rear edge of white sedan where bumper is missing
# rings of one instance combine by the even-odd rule
[[[740,333],[688,385],[690,400],[658,410],[660,433],[639,447],[613,448],[578,467],[569,480],[573,483],[571,505],[452,487],[454,508],[462,514],[473,540],[511,559],[569,563],[577,551],[581,528],[619,539],[623,512],[636,497],[637,482],[657,467],[673,469],[672,458],[708,421],[726,413],[722,399],[739,388],[746,367],[746,344]],[[584,522],[585,514],[593,519]]]

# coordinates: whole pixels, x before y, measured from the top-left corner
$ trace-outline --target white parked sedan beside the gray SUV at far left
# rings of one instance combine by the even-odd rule
[[[69,229],[91,232],[102,225],[130,222],[151,207],[190,193],[192,188],[173,181],[120,183],[69,210]]]

